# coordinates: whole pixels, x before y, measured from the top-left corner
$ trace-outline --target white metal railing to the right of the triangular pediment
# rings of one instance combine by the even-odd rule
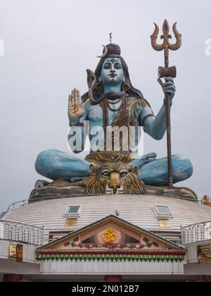
[[[182,245],[211,240],[211,221],[181,228]]]

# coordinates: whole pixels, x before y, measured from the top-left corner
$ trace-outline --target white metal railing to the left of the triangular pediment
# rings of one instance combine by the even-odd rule
[[[43,245],[44,228],[0,219],[0,239]]]

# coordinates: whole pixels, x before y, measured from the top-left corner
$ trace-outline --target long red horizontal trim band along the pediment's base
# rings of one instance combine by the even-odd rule
[[[178,255],[184,256],[186,252],[177,250],[125,250],[125,249],[106,249],[106,250],[92,250],[92,249],[42,249],[37,254],[127,254],[127,255]]]

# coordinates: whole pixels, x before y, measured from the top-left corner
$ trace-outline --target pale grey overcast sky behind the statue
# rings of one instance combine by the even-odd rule
[[[0,211],[28,199],[39,176],[34,170],[44,149],[68,152],[68,94],[87,91],[86,69],[95,69],[101,44],[120,44],[132,83],[157,113],[162,91],[157,82],[163,55],[151,48],[153,23],[178,22],[183,35],[176,65],[177,94],[172,106],[173,153],[193,162],[194,174],[178,185],[210,190],[211,3],[167,0],[0,0],[1,187]],[[1,42],[2,43],[2,42]],[[145,152],[166,156],[166,140],[145,136]]]

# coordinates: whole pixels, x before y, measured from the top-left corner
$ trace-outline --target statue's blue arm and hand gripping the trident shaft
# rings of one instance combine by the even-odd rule
[[[170,101],[174,98],[176,92],[174,80],[172,78],[165,78],[163,84],[163,91],[170,95]],[[148,133],[155,140],[162,140],[166,131],[166,111],[165,104],[162,104],[157,116],[154,116],[150,106],[146,106],[141,110],[141,125],[143,130]]]

